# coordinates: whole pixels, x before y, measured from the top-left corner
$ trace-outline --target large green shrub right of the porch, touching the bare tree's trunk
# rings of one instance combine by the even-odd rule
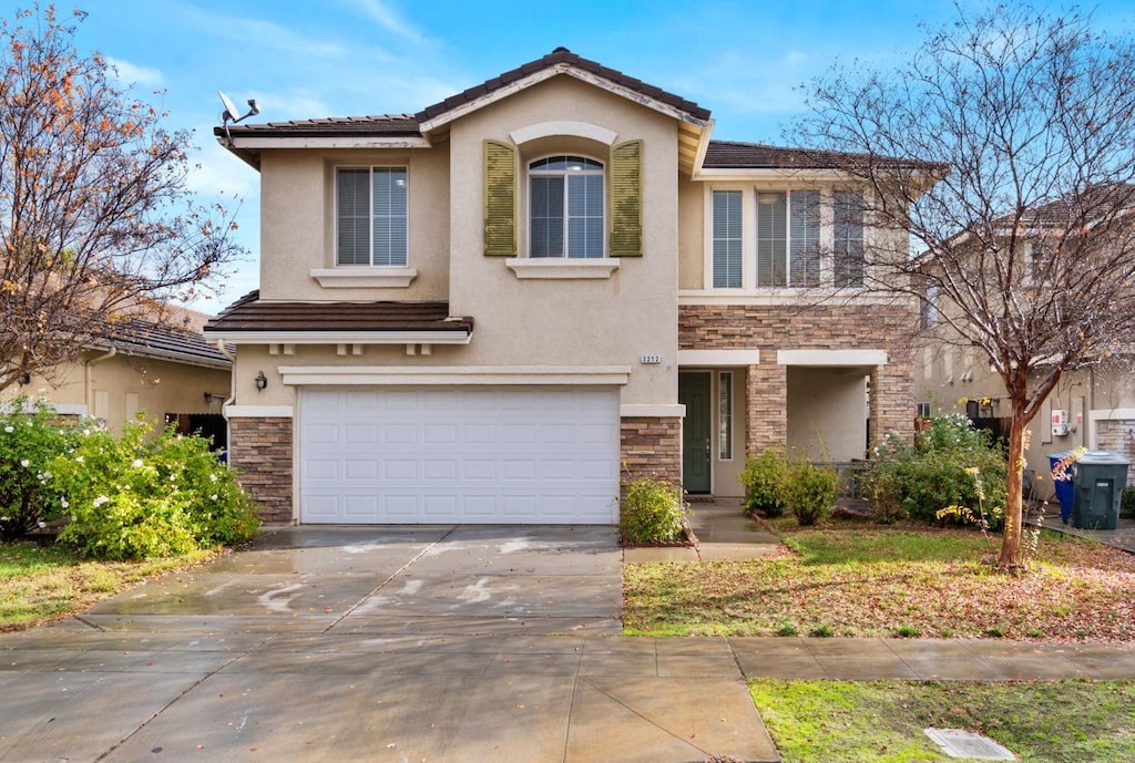
[[[977,469],[980,480],[966,469]],[[942,520],[965,522],[978,516],[976,484],[985,489],[990,529],[1004,522],[1006,460],[987,432],[975,430],[965,416],[935,416],[915,444],[890,435],[875,449],[875,464],[865,475],[872,507],[884,518],[910,518],[932,524],[947,507],[970,509],[943,515]]]

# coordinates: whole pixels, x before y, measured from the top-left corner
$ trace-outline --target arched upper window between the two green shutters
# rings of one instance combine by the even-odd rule
[[[528,166],[529,256],[602,257],[604,167],[583,156],[548,156]]]

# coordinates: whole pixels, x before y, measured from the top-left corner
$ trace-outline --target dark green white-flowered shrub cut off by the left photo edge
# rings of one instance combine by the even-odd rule
[[[50,465],[74,436],[43,400],[24,398],[0,414],[0,541],[11,542],[59,516]]]

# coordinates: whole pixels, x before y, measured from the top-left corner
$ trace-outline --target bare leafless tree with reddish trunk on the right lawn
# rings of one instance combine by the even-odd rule
[[[1135,329],[1135,44],[1090,15],[1016,5],[959,6],[924,32],[894,71],[839,67],[813,83],[797,138],[850,154],[844,169],[876,192],[874,222],[909,232],[917,256],[880,253],[866,288],[928,289],[939,336],[980,348],[1003,381],[999,566],[1016,571],[1027,424],[1061,374]]]

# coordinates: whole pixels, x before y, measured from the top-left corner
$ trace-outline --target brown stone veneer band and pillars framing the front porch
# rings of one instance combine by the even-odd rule
[[[788,368],[780,349],[885,349],[888,363],[871,374],[872,438],[914,438],[914,354],[908,340],[917,311],[901,305],[682,305],[680,349],[758,349],[748,367],[747,450],[759,452],[788,436]]]

